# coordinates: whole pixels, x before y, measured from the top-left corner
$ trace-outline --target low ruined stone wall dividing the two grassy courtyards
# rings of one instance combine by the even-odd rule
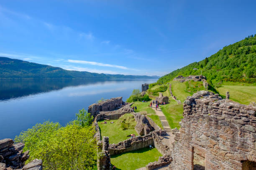
[[[151,133],[145,136],[130,138],[117,144],[110,144],[108,149],[110,155],[115,155],[132,150],[146,148],[149,147],[149,145],[154,145],[154,140]]]

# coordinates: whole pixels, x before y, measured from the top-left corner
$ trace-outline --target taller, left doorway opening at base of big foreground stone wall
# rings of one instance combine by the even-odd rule
[[[194,170],[205,170],[205,152],[195,147],[193,154]]]

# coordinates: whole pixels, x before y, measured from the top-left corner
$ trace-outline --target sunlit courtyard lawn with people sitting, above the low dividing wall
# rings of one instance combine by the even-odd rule
[[[123,116],[129,116],[129,115],[132,115],[132,114],[127,113]],[[107,124],[101,124],[104,121],[105,120],[98,121],[98,124],[100,127],[100,134],[101,134],[101,137],[108,136],[109,143],[118,143],[123,140],[129,139],[131,137],[126,137],[126,136],[130,135],[130,134],[138,135],[138,133],[135,131],[134,128],[128,129],[128,130],[123,130],[121,128],[120,119],[119,120],[106,120],[108,122]],[[110,123],[110,122],[114,122],[114,123]],[[136,123],[135,123],[135,125],[136,125]]]

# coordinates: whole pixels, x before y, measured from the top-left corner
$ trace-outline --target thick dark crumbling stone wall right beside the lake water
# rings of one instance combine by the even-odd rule
[[[95,117],[101,111],[105,112],[105,111],[115,110],[118,107],[120,107],[120,105],[125,104],[125,102],[123,102],[122,99],[123,97],[115,97],[100,103],[94,103],[88,107],[88,112]]]

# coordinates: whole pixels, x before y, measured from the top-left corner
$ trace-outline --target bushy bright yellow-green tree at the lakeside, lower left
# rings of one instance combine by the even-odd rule
[[[79,110],[77,120],[65,127],[49,121],[36,124],[16,136],[15,143],[25,143],[23,150],[30,150],[28,161],[42,159],[44,170],[91,170],[97,161],[97,145],[85,113]]]

